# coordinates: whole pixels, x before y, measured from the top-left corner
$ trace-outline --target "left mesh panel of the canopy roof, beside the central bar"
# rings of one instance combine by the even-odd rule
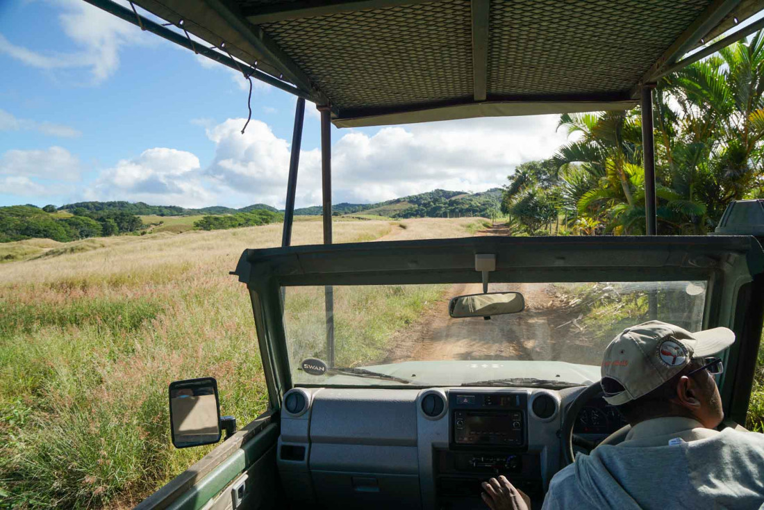
[[[340,108],[472,96],[468,0],[261,26]]]

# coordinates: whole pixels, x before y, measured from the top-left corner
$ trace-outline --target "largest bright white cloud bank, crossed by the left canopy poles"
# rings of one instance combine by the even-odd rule
[[[376,202],[435,188],[483,191],[504,184],[516,165],[549,158],[565,142],[558,117],[468,119],[381,128],[374,135],[345,132],[332,151],[333,202]],[[229,200],[283,206],[289,141],[264,122],[228,119],[207,135],[217,145],[205,173]],[[332,130],[337,137],[338,132]],[[321,200],[320,152],[300,154],[297,204]]]

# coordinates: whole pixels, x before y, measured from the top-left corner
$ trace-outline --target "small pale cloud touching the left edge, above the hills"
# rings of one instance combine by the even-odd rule
[[[6,151],[0,157],[0,174],[15,177],[40,177],[50,180],[77,180],[79,160],[65,148]]]

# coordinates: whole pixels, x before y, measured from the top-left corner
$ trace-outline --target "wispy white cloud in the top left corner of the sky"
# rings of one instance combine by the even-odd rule
[[[86,68],[92,75],[93,83],[101,83],[112,76],[119,67],[119,50],[129,44],[154,44],[132,24],[108,14],[80,0],[51,0],[62,9],[59,21],[64,33],[80,48],[62,53],[48,50],[35,51],[18,46],[0,34],[0,54],[20,60],[22,63],[44,70]],[[119,2],[128,5],[127,2]]]

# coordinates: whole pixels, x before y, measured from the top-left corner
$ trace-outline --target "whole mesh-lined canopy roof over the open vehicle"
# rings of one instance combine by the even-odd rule
[[[114,12],[110,0],[86,1]],[[764,5],[761,0],[133,3],[248,64],[243,73],[256,67],[255,77],[290,84],[296,95],[329,108],[338,127],[630,109],[640,86]],[[193,49],[199,51],[199,44]]]

